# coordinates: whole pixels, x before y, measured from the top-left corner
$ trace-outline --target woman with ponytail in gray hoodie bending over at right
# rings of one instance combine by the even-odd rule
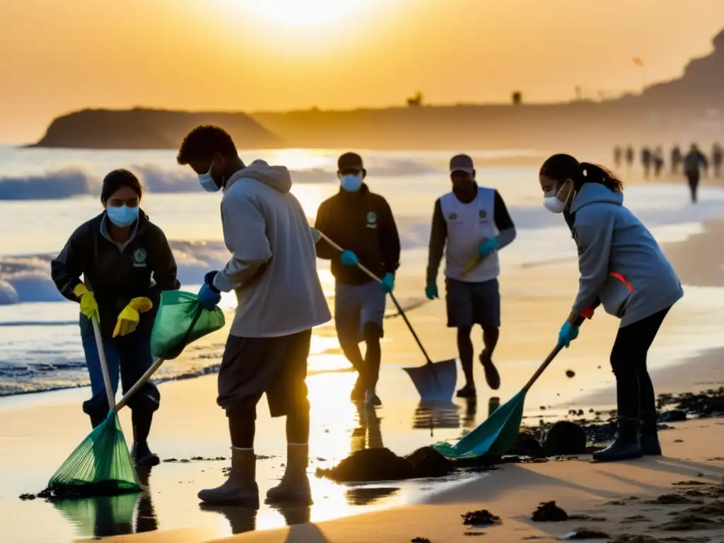
[[[661,455],[656,399],[647,353],[681,282],[651,232],[623,206],[623,184],[602,167],[558,154],[539,172],[544,206],[563,213],[578,248],[578,295],[558,335],[568,347],[578,337],[576,320],[602,304],[621,324],[611,350],[616,376],[618,432],[594,460]]]

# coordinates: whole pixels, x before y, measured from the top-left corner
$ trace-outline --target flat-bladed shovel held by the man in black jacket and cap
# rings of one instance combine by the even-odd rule
[[[337,251],[340,251],[340,253],[344,251],[340,245],[337,245],[337,243],[330,240],[324,232],[319,232],[319,235],[321,239],[329,243],[329,245],[337,249]],[[379,283],[382,282],[382,279],[369,271],[369,269],[366,269],[366,267],[362,264],[357,264],[357,266],[364,273],[369,275],[371,279],[374,279]],[[392,299],[392,303],[395,304],[397,311],[399,311],[400,316],[405,320],[405,324],[407,324],[408,329],[410,329],[412,337],[415,338],[415,341],[426,360],[424,366],[418,368],[403,368],[408,372],[410,379],[412,379],[417,392],[420,394],[421,400],[424,402],[447,402],[452,400],[452,395],[455,393],[455,384],[458,382],[458,366],[455,358],[433,363],[432,360],[430,360],[427,351],[422,346],[420,338],[417,337],[415,329],[413,329],[412,324],[408,321],[405,311],[403,311],[403,308],[399,303],[397,303],[397,298],[395,298],[395,295],[393,295],[392,292],[390,292],[390,298]]]

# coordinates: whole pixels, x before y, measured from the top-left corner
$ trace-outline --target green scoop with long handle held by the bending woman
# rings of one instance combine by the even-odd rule
[[[583,316],[576,321],[576,325],[580,326],[584,319],[590,318],[591,315],[591,310],[584,311]],[[521,421],[523,420],[523,403],[526,400],[526,393],[545,369],[550,366],[550,363],[560,353],[561,349],[563,349],[563,346],[556,345],[556,348],[551,351],[548,358],[536,370],[526,386],[523,387],[523,390],[510,398],[508,402],[500,405],[466,437],[460,439],[455,445],[450,445],[447,442],[437,442],[433,445],[434,449],[447,458],[474,458],[477,456],[500,458],[505,455],[518,439],[518,432],[521,429]]]

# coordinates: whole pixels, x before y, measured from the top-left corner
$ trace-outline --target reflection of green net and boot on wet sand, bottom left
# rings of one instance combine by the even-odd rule
[[[138,479],[144,492],[99,496],[85,500],[61,500],[54,506],[70,521],[80,537],[106,537],[153,531],[159,523],[148,490],[151,468],[140,468]],[[135,529],[133,526],[133,516]]]

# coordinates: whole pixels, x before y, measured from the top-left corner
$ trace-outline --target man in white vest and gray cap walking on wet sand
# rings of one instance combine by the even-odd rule
[[[479,361],[493,390],[500,374],[492,355],[500,329],[500,289],[497,252],[515,239],[515,226],[500,193],[479,187],[473,159],[450,159],[452,191],[438,198],[432,215],[425,294],[438,298],[437,270],[445,252],[447,326],[458,329],[458,353],[466,384],[458,397],[475,397],[473,381],[473,325],[483,329],[484,350]]]

